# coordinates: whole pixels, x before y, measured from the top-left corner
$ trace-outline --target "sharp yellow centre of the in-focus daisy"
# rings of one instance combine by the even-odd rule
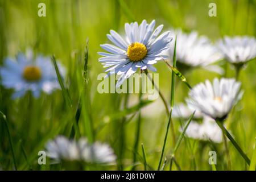
[[[147,55],[147,48],[142,43],[132,43],[127,49],[127,56],[131,61],[140,61]]]

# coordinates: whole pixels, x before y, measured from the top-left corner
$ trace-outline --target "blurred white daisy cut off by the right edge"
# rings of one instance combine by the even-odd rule
[[[232,64],[243,64],[256,57],[256,39],[249,36],[225,36],[217,43],[225,58]]]

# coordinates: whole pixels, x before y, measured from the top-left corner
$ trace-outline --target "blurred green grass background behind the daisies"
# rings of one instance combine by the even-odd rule
[[[46,17],[38,16],[38,3],[46,3]],[[217,5],[217,17],[208,15],[209,3]],[[109,143],[118,156],[117,166],[98,166],[90,169],[131,169],[133,144],[138,110],[129,110],[138,103],[138,94],[100,94],[97,92],[99,73],[104,72],[98,63],[100,44],[109,42],[109,30],[124,32],[126,22],[156,20],[164,24],[164,30],[182,28],[197,31],[213,42],[225,35],[256,35],[256,1],[253,0],[0,0],[0,64],[7,56],[14,57],[28,48],[35,53],[55,55],[67,69],[65,85],[69,89],[73,107],[67,107],[60,91],[51,96],[42,94],[34,99],[26,94],[19,100],[11,100],[12,90],[0,86],[0,110],[5,113],[13,138],[18,169],[61,169],[60,165],[38,165],[38,151],[44,150],[49,139],[56,135],[69,135],[75,119],[79,96],[82,92],[82,68],[86,39],[89,40],[87,94],[82,99],[82,113],[79,122],[80,136],[89,140]],[[224,77],[234,77],[234,69],[225,60],[218,63],[225,70]],[[170,100],[171,72],[164,63],[155,65],[159,73],[159,88]],[[230,114],[227,127],[251,157],[255,143],[256,129],[256,61],[247,64],[241,71],[240,81],[245,91],[242,101]],[[206,79],[221,77],[203,69],[185,73],[192,86]],[[177,81],[175,103],[183,102],[188,89]],[[133,118],[129,119],[131,116]],[[2,121],[2,120],[1,120]],[[149,166],[156,169],[168,118],[160,98],[142,108],[141,138]],[[176,134],[180,123],[174,120]],[[192,148],[187,146],[190,140]],[[171,133],[167,140],[165,156],[171,154],[175,143]],[[203,147],[205,146],[205,147]],[[214,146],[218,152],[218,170],[226,169],[223,144]],[[185,138],[181,143],[176,160],[183,170],[209,170],[208,151],[213,146]],[[230,144],[232,169],[246,169],[246,164]],[[138,160],[142,161],[139,145]],[[196,164],[193,163],[196,158]],[[121,164],[121,162],[122,164]],[[14,169],[8,135],[0,122],[0,169]],[[143,169],[138,162],[137,169]],[[174,169],[177,169],[174,166]]]

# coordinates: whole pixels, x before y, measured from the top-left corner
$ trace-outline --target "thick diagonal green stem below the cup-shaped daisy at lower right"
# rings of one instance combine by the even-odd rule
[[[234,138],[232,137],[232,135],[230,135],[230,133],[228,132],[228,130],[225,129],[225,127],[223,126],[222,122],[219,121],[218,119],[216,119],[216,122],[218,124],[218,126],[220,126],[221,130],[223,131],[223,133],[226,135],[226,137],[228,137],[228,139],[230,140],[230,142],[233,144],[233,146],[237,149],[237,151],[240,153],[240,155],[242,156],[243,159],[245,159],[245,162],[250,166],[250,159],[247,157],[247,155],[245,154],[245,152],[242,151],[241,147],[237,144],[236,140],[234,140]]]

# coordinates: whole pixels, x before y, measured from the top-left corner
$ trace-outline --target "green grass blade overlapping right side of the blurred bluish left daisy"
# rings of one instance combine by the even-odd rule
[[[69,96],[68,89],[65,88],[65,86],[63,84],[63,79],[62,79],[62,77],[60,75],[60,71],[59,71],[59,68],[58,68],[58,65],[56,63],[56,59],[55,59],[54,55],[52,56],[52,62],[53,62],[53,65],[54,65],[54,68],[55,68],[55,72],[56,72],[56,75],[57,75],[57,78],[58,78],[58,81],[59,81],[59,84],[60,84],[60,87],[61,87],[61,90],[62,90],[62,93],[63,93],[63,98],[65,100],[65,103],[69,107],[72,107],[71,97]]]

